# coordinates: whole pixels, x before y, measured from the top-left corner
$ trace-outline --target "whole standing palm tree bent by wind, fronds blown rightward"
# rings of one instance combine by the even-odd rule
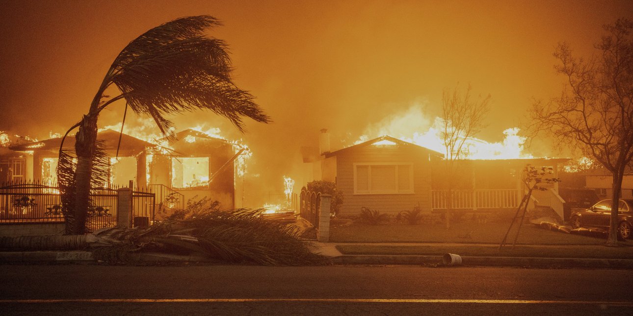
[[[125,100],[126,112],[130,107],[151,116],[168,137],[173,136],[172,122],[166,114],[183,111],[211,110],[228,118],[242,132],[244,116],[261,123],[270,121],[253,102],[253,95],[232,82],[225,42],[204,35],[207,28],[218,25],[221,23],[213,16],[179,18],[152,28],[118,54],[88,113],[64,135],[78,128],[76,157],[60,147],[58,179],[65,204],[66,234],[85,232],[91,183],[106,179],[103,171],[107,163],[96,140],[97,118],[110,104]],[[116,95],[106,95],[113,85],[118,88]]]

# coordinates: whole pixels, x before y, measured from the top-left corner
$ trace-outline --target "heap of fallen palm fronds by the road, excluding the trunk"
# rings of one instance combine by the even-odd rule
[[[266,221],[261,210],[196,212],[139,231],[132,242],[145,248],[176,248],[204,253],[225,262],[306,265],[324,262],[299,239],[295,226]]]

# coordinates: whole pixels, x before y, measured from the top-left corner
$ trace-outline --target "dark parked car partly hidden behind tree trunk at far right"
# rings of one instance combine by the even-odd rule
[[[589,209],[573,212],[573,228],[602,228],[609,229],[611,221],[611,199],[601,200]],[[618,207],[618,234],[624,239],[631,238],[633,227],[633,199],[620,199]]]

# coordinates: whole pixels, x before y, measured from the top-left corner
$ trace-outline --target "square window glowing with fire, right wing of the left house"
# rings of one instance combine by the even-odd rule
[[[209,184],[209,157],[172,159],[172,187],[195,188]]]

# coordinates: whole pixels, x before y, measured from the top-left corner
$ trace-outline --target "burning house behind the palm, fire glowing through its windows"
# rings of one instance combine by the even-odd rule
[[[156,193],[156,204],[165,202],[172,207],[184,207],[196,196],[217,200],[225,209],[234,208],[235,201],[241,200],[235,194],[235,163],[246,148],[228,140],[189,129],[161,140],[166,145],[113,130],[99,131],[97,140],[110,156],[110,179],[104,187],[144,188]],[[14,167],[5,178],[14,183],[56,185],[60,145],[58,137],[5,148],[11,154],[6,157],[12,166],[22,168],[16,171]],[[66,137],[63,149],[72,151],[74,146],[75,138]],[[20,160],[18,164],[15,159]]]

